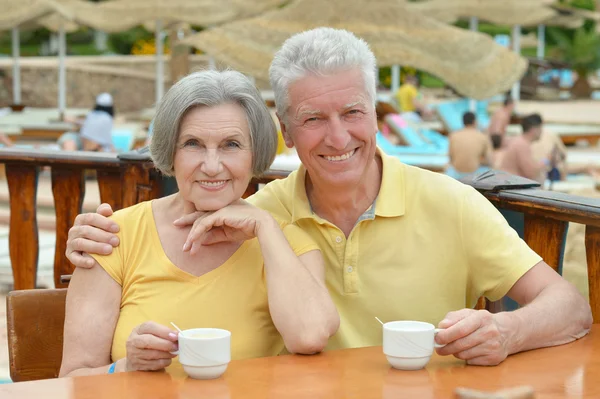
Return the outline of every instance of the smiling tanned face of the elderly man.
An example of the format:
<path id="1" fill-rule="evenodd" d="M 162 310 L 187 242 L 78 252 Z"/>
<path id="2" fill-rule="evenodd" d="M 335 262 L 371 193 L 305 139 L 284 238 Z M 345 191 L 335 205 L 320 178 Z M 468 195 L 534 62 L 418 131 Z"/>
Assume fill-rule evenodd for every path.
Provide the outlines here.
<path id="1" fill-rule="evenodd" d="M 375 157 L 377 132 L 360 69 L 301 78 L 288 94 L 282 133 L 312 181 L 328 187 L 358 184 Z"/>

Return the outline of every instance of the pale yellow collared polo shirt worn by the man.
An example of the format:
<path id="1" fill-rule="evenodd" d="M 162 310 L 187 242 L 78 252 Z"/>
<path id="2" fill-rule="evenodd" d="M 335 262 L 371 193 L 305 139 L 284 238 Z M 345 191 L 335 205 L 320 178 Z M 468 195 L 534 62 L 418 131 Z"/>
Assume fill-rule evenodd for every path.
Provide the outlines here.
<path id="1" fill-rule="evenodd" d="M 437 325 L 482 295 L 498 300 L 541 261 L 475 189 L 378 152 L 379 195 L 347 238 L 311 211 L 304 167 L 250 199 L 321 248 L 341 319 L 328 349 L 381 345 L 375 316 Z"/>

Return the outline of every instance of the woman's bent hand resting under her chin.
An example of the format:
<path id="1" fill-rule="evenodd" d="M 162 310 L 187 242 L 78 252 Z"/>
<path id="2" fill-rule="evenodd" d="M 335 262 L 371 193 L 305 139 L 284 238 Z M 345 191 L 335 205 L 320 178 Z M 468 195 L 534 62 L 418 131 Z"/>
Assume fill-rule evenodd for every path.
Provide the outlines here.
<path id="1" fill-rule="evenodd" d="M 181 225 L 179 221 L 177 225 Z M 218 211 L 198 216 L 183 250 L 193 255 L 200 245 L 250 240 L 258 237 L 261 227 L 270 222 L 275 221 L 268 212 L 238 200 Z"/>

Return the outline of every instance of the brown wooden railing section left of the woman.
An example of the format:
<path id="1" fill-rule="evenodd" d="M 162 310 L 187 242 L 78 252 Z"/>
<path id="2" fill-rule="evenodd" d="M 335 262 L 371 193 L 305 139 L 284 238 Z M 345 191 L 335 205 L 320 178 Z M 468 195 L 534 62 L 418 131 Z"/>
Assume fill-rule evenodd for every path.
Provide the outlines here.
<path id="1" fill-rule="evenodd" d="M 51 168 L 52 193 L 56 209 L 54 282 L 64 287 L 60 276 L 71 274 L 73 266 L 65 256 L 69 228 L 81 212 L 85 195 L 85 174 L 96 173 L 102 202 L 120 209 L 156 198 L 160 176 L 147 155 L 121 160 L 116 155 L 87 152 L 49 152 L 0 149 L 10 194 L 9 249 L 14 289 L 36 286 L 39 254 L 36 195 L 40 170 Z"/>

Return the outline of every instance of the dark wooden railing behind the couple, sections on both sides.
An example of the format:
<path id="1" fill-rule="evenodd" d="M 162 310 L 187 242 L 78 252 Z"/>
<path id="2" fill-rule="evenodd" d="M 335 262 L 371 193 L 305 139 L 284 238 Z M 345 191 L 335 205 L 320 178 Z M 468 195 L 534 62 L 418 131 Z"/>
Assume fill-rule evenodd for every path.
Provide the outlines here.
<path id="1" fill-rule="evenodd" d="M 15 289 L 35 287 L 38 258 L 36 223 L 37 176 L 49 166 L 56 207 L 56 253 L 54 281 L 70 274 L 73 266 L 65 257 L 68 230 L 81 212 L 84 171 L 96 171 L 102 202 L 119 209 L 157 198 L 162 192 L 162 177 L 153 168 L 147 153 L 121 157 L 96 153 L 40 152 L 0 149 L 0 163 L 6 164 L 10 190 L 10 258 Z M 284 178 L 288 172 L 269 171 L 253 179 L 245 196 L 260 184 Z M 568 222 L 586 225 L 585 247 L 588 264 L 590 303 L 594 322 L 600 322 L 600 200 L 538 189 L 480 190 L 499 209 L 524 215 L 524 239 L 544 260 L 558 271 Z M 500 310 L 498 304 L 488 308 Z"/>

